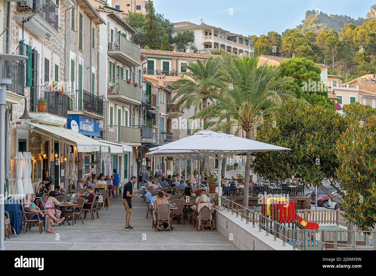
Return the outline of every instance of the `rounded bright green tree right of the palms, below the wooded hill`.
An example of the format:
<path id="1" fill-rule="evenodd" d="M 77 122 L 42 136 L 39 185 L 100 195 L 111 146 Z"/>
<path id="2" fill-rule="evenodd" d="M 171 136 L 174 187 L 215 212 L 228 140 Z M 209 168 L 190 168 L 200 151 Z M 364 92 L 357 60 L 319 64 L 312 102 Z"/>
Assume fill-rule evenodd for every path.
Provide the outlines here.
<path id="1" fill-rule="evenodd" d="M 279 67 L 281 77 L 293 78 L 294 81 L 287 84 L 287 87 L 296 94 L 298 99 L 303 98 L 308 103 L 333 108 L 334 101 L 327 98 L 327 87 L 324 84 L 316 88 L 310 85 L 321 83 L 321 69 L 312 60 L 305 57 L 288 59 L 280 63 Z"/>

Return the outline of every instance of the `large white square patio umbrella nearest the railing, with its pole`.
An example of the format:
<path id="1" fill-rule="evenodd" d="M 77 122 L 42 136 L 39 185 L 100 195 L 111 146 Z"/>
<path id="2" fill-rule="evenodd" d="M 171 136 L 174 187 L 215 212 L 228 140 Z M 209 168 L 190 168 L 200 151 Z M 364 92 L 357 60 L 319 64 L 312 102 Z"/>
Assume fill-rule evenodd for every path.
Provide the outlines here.
<path id="1" fill-rule="evenodd" d="M 167 143 L 162 146 L 151 148 L 150 150 L 189 150 L 197 154 L 207 155 L 218 159 L 218 205 L 221 205 L 221 163 L 222 160 L 229 155 L 241 152 L 267 152 L 290 150 L 280 146 L 262 143 L 255 140 L 237 137 L 232 134 L 226 134 L 221 131 L 214 132 L 211 130 L 203 130 L 174 142 Z"/>

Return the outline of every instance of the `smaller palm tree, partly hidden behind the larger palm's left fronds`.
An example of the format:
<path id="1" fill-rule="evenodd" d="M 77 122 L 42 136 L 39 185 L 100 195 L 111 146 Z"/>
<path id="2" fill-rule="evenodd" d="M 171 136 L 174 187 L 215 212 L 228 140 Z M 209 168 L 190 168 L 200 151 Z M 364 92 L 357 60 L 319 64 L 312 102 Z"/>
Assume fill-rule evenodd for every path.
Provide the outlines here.
<path id="1" fill-rule="evenodd" d="M 211 57 L 202 62 L 196 60 L 189 62 L 186 66 L 186 72 L 182 73 L 182 79 L 175 81 L 172 87 L 176 89 L 175 95 L 172 99 L 176 101 L 176 107 L 183 107 L 183 109 L 190 109 L 194 106 L 195 113 L 201 108 L 208 106 L 208 100 L 218 93 L 218 88 L 212 85 L 207 85 L 207 82 L 220 79 L 220 69 L 222 60 Z M 204 119 L 204 124 L 207 120 Z M 206 170 L 206 160 L 202 160 L 202 170 Z"/>

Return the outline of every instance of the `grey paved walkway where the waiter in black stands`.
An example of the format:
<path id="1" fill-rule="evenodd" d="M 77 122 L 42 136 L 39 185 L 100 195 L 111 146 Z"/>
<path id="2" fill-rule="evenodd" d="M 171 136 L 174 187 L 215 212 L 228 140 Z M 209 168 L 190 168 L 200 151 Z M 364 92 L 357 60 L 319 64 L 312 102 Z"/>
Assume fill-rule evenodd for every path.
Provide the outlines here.
<path id="1" fill-rule="evenodd" d="M 102 209 L 99 219 L 90 216 L 73 226 L 67 223 L 53 230 L 56 234 L 39 234 L 38 227 L 6 240 L 7 250 L 132 250 L 132 249 L 175 249 L 175 250 L 237 250 L 226 238 L 215 230 L 197 232 L 190 223 L 180 225 L 170 232 L 155 232 L 152 219 L 146 219 L 146 203 L 142 198 L 132 199 L 130 225 L 133 230 L 124 230 L 125 210 L 122 199 L 110 199 L 108 211 Z"/>

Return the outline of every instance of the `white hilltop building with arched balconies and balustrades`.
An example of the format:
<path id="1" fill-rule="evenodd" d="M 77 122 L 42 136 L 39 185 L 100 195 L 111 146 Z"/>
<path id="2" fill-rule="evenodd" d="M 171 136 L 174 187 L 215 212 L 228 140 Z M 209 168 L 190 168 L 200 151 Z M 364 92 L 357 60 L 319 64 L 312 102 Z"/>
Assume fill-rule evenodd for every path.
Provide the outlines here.
<path id="1" fill-rule="evenodd" d="M 218 48 L 240 56 L 253 56 L 253 40 L 206 24 L 194 24 L 188 21 L 174 23 L 174 35 L 183 31 L 194 32 L 194 46 L 199 52 L 211 52 Z"/>

